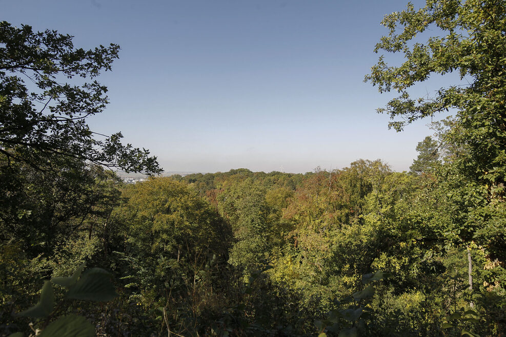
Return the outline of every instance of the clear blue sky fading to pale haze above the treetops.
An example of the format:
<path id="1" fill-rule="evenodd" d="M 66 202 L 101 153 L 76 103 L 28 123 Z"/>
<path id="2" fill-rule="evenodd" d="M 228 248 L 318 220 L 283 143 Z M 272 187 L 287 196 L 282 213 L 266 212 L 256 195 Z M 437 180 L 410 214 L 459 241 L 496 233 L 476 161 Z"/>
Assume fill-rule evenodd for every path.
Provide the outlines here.
<path id="1" fill-rule="evenodd" d="M 376 109 L 394 95 L 363 78 L 387 34 L 381 19 L 406 4 L 0 0 L 0 20 L 73 35 L 85 49 L 118 44 L 112 72 L 98 78 L 110 104 L 90 128 L 121 131 L 165 171 L 304 173 L 360 158 L 404 171 L 431 120 L 388 130 L 389 117 Z"/>

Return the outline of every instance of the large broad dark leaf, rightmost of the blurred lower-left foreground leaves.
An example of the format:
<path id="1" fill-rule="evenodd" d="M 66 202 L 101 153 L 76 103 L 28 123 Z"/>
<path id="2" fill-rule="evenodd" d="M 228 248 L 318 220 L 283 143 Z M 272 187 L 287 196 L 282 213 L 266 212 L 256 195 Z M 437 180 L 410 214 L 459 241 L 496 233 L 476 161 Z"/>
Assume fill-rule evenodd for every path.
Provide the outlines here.
<path id="1" fill-rule="evenodd" d="M 104 302 L 116 297 L 111 274 L 102 268 L 91 268 L 72 286 L 67 298 L 75 300 Z"/>

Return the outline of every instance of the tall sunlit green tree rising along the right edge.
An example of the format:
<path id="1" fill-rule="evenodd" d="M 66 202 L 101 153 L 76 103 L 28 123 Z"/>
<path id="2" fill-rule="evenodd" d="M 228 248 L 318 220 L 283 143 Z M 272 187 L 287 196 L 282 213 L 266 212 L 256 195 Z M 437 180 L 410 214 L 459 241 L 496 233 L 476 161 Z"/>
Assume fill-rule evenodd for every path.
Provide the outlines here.
<path id="1" fill-rule="evenodd" d="M 493 282 L 496 290 L 504 289 L 506 1 L 427 0 L 418 10 L 409 3 L 407 9 L 386 15 L 382 25 L 389 34 L 375 51 L 402 53 L 404 61 L 390 66 L 381 55 L 366 76 L 381 93 L 399 94 L 378 112 L 389 114 L 393 120 L 389 126 L 397 131 L 438 112 L 456 112 L 445 137 L 458 151 L 438 177 L 453 222 L 441 224 L 447 227 L 442 235 L 447 242 L 468 249 L 479 247 L 485 256 L 484 269 L 493 266 L 488 283 Z M 425 43 L 421 33 L 430 34 Z M 418 83 L 452 72 L 458 72 L 461 81 L 432 96 L 412 95 Z M 468 258 L 471 266 L 471 254 Z M 501 305 L 506 305 L 503 295 Z"/>

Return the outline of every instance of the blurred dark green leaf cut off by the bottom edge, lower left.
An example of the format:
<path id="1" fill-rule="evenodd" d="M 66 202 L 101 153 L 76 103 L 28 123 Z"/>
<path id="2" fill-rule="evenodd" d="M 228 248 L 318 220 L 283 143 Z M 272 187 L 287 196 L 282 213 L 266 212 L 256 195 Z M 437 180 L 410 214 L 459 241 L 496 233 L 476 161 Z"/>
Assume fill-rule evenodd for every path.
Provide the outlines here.
<path id="1" fill-rule="evenodd" d="M 94 337 L 95 327 L 86 318 L 78 315 L 62 316 L 51 322 L 39 337 Z"/>

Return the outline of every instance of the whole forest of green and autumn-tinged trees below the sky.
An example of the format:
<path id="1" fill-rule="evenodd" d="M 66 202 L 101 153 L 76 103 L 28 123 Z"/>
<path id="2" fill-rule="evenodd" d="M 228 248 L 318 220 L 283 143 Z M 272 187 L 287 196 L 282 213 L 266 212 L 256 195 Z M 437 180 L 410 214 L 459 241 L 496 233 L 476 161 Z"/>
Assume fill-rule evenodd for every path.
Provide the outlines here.
<path id="1" fill-rule="evenodd" d="M 119 46 L 0 22 L 0 335 L 506 336 L 506 1 L 382 25 L 365 81 L 397 96 L 378 112 L 434 120 L 409 172 L 160 177 L 87 123 Z M 413 94 L 452 72 L 467 84 Z"/>

